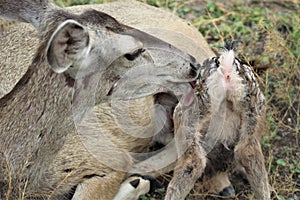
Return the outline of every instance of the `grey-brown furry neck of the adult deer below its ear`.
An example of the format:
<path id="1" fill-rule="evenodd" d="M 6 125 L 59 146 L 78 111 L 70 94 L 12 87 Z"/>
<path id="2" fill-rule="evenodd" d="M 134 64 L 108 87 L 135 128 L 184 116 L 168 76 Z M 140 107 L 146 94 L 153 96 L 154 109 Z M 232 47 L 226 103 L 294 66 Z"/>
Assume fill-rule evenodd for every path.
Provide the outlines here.
<path id="1" fill-rule="evenodd" d="M 52 72 L 37 55 L 14 89 L 0 99 L 0 150 L 13 163 L 13 172 L 46 168 L 41 165 L 51 162 L 66 131 L 72 130 L 71 103 L 72 87 L 65 76 Z"/>

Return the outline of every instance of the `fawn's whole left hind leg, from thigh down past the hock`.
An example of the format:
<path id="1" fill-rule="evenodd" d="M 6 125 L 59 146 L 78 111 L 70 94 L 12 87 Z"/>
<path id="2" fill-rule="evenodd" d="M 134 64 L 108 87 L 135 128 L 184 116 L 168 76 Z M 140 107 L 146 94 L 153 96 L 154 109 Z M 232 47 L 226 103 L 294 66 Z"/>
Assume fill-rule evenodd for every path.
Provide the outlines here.
<path id="1" fill-rule="evenodd" d="M 184 106 L 184 102 L 180 101 L 183 104 L 174 110 L 174 140 L 178 160 L 167 188 L 166 200 L 184 199 L 206 166 L 206 154 L 201 144 L 202 128 L 198 125 L 198 101 L 195 100 L 189 107 Z"/>

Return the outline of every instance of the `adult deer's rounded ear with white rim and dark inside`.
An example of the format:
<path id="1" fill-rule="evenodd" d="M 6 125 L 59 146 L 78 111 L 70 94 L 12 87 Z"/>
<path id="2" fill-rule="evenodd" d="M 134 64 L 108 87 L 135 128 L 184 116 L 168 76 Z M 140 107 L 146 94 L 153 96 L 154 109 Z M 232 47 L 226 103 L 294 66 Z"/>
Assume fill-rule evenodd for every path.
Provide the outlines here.
<path id="1" fill-rule="evenodd" d="M 89 50 L 89 33 L 75 20 L 66 20 L 58 26 L 48 42 L 46 54 L 50 67 L 63 73 L 80 61 Z"/>

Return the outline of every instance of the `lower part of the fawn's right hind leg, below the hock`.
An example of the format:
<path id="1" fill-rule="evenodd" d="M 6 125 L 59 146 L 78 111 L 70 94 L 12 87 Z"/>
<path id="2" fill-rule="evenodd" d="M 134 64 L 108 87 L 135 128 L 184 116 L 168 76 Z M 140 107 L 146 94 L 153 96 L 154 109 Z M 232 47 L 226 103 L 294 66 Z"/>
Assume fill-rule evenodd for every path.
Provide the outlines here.
<path id="1" fill-rule="evenodd" d="M 235 147 L 235 160 L 245 169 L 255 198 L 269 200 L 270 189 L 264 156 L 259 141 L 253 135 L 243 139 Z"/>

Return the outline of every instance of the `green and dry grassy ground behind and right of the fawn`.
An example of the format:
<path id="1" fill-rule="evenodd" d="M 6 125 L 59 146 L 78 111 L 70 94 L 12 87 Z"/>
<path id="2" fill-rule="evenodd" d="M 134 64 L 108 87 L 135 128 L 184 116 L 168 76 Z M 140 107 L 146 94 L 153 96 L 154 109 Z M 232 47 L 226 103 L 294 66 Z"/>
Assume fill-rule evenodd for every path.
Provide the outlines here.
<path id="1" fill-rule="evenodd" d="M 60 6 L 105 3 L 56 0 Z M 217 52 L 226 39 L 242 41 L 240 54 L 253 66 L 267 98 L 267 132 L 262 141 L 272 199 L 300 197 L 300 18 L 296 1 L 144 0 L 192 22 Z M 225 1 L 224 1 L 225 2 Z M 255 3 L 257 2 L 257 3 Z M 298 12 L 298 13 L 297 13 Z M 195 192 L 194 192 L 195 193 Z M 238 198 L 250 198 L 240 193 Z M 251 196 L 251 195 L 250 195 Z M 192 195 L 191 195 L 192 197 Z M 142 197 L 153 199 L 153 197 Z"/>

